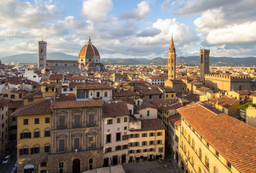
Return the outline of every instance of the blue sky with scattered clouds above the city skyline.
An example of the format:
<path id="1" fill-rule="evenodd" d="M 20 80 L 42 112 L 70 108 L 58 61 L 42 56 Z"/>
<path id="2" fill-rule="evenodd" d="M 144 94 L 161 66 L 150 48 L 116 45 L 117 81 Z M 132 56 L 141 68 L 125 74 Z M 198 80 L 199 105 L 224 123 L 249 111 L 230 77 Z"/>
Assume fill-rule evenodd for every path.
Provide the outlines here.
<path id="1" fill-rule="evenodd" d="M 91 37 L 101 58 L 256 54 L 255 0 L 3 0 L 0 58 L 47 51 L 78 56 Z"/>

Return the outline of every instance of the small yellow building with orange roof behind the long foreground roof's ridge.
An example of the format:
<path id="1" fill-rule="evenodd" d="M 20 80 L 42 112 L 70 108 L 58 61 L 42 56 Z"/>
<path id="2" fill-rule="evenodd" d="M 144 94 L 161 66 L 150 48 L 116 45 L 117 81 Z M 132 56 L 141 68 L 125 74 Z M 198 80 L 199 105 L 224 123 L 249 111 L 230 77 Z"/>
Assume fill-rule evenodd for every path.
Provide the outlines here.
<path id="1" fill-rule="evenodd" d="M 237 99 L 223 96 L 216 99 L 211 99 L 210 103 L 213 105 L 213 107 L 221 110 L 226 115 L 238 115 L 237 110 L 239 110 L 239 100 Z"/>

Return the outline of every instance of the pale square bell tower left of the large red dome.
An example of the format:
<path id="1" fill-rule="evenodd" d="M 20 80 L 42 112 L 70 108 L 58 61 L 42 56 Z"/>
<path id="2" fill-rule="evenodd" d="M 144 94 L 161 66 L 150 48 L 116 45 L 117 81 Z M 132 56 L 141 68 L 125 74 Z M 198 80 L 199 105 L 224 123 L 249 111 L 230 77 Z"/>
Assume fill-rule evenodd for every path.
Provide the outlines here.
<path id="1" fill-rule="evenodd" d="M 46 45 L 47 43 L 42 41 L 38 42 L 38 69 L 42 70 L 46 66 Z"/>

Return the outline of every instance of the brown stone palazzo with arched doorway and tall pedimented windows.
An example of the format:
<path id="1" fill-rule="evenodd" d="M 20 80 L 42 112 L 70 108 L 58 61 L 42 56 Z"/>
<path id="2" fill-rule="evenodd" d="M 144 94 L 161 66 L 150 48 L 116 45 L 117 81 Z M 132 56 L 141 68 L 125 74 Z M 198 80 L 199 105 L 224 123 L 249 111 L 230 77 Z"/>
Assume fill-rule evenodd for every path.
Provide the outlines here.
<path id="1" fill-rule="evenodd" d="M 49 173 L 102 167 L 102 106 L 102 100 L 53 103 Z"/>

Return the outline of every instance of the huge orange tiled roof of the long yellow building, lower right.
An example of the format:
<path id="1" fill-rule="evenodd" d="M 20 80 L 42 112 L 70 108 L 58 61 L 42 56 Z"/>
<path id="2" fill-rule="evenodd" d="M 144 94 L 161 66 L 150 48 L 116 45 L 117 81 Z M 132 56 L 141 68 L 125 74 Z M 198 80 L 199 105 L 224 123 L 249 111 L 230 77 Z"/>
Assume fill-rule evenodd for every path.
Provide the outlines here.
<path id="1" fill-rule="evenodd" d="M 256 172 L 256 129 L 200 102 L 177 110 L 240 172 Z"/>

